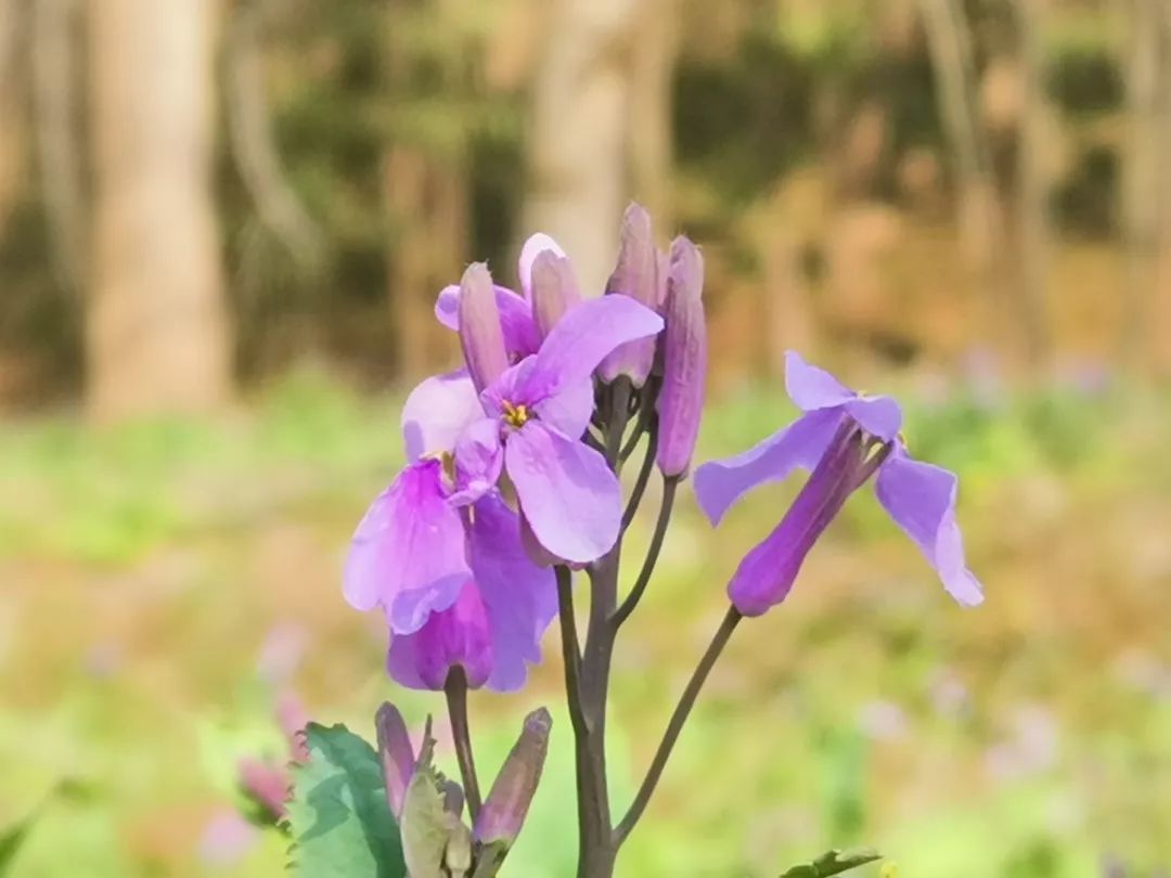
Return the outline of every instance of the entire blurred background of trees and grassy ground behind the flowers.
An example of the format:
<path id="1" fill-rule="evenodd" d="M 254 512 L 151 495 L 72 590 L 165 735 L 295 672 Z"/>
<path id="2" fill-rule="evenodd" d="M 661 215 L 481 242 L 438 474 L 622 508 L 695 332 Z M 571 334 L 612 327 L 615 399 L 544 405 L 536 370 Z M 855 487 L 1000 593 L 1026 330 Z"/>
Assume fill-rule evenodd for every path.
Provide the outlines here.
<path id="1" fill-rule="evenodd" d="M 8 873 L 280 874 L 237 816 L 278 714 L 441 712 L 340 591 L 398 402 L 457 362 L 436 293 L 514 282 L 536 229 L 598 290 L 637 198 L 704 247 L 703 455 L 789 417 L 789 347 L 898 392 L 987 603 L 856 498 L 621 873 L 867 843 L 908 878 L 1165 876 L 1169 155 L 1166 0 L 0 0 Z M 792 493 L 718 539 L 685 493 L 616 657 L 619 798 Z M 561 698 L 555 644 L 474 700 L 481 771 Z M 554 739 L 506 874 L 571 873 Z"/>

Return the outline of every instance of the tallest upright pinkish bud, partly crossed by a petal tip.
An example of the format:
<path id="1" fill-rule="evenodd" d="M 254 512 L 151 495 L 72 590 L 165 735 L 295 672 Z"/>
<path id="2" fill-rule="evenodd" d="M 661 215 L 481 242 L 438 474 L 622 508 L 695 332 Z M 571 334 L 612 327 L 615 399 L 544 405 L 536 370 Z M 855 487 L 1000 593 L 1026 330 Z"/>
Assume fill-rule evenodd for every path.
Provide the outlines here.
<path id="1" fill-rule="evenodd" d="M 607 295 L 630 296 L 653 310 L 658 309 L 658 251 L 646 208 L 631 203 L 622 218 L 622 245 L 618 265 L 605 284 Z M 655 365 L 655 338 L 638 338 L 617 348 L 598 366 L 598 377 L 607 384 L 625 375 L 636 387 L 646 383 Z"/>

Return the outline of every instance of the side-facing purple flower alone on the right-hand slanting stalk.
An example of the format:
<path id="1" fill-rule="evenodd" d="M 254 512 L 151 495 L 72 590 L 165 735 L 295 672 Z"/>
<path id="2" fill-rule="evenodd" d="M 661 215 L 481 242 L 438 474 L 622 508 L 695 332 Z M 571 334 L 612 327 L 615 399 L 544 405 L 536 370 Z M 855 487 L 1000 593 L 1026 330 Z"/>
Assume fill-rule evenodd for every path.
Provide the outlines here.
<path id="1" fill-rule="evenodd" d="M 956 522 L 956 475 L 906 453 L 898 404 L 890 397 L 860 396 L 792 351 L 785 383 L 803 414 L 742 454 L 696 472 L 699 505 L 714 524 L 758 485 L 797 467 L 812 471 L 776 529 L 740 562 L 728 583 L 735 608 L 759 616 L 783 601 L 817 537 L 876 472 L 878 502 L 919 547 L 944 588 L 966 606 L 979 604 L 984 595 L 967 569 Z"/>

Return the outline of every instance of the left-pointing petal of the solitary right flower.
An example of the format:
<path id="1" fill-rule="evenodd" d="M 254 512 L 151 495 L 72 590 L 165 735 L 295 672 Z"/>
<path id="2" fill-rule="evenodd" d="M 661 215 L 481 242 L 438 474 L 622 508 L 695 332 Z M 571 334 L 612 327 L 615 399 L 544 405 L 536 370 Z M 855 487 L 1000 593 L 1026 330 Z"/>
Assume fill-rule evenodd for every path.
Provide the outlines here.
<path id="1" fill-rule="evenodd" d="M 744 494 L 785 479 L 795 468 L 813 469 L 842 421 L 836 409 L 802 414 L 789 426 L 746 452 L 712 460 L 696 469 L 696 499 L 712 524 Z"/>

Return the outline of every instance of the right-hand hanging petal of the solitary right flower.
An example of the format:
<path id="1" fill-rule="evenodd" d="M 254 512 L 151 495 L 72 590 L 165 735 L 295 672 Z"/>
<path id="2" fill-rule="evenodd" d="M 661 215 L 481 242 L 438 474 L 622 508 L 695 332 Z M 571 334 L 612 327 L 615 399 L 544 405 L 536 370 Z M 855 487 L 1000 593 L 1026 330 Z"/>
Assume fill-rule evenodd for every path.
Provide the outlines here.
<path id="1" fill-rule="evenodd" d="M 964 540 L 956 522 L 954 473 L 912 460 L 898 447 L 878 469 L 878 502 L 939 572 L 949 594 L 965 606 L 984 601 L 980 583 L 967 569 Z"/>

